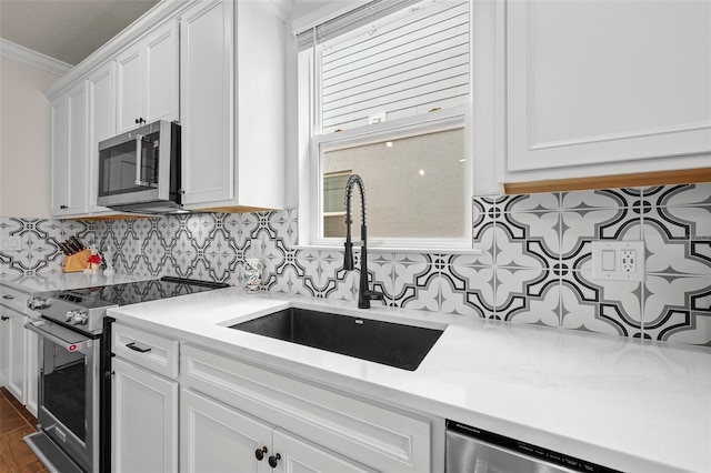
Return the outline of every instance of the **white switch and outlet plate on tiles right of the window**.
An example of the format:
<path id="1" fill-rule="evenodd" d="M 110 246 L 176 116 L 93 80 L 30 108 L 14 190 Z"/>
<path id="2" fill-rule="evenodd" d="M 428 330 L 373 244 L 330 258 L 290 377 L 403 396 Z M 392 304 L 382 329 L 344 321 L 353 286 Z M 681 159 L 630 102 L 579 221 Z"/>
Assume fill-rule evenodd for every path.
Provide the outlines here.
<path id="1" fill-rule="evenodd" d="M 644 242 L 593 241 L 592 278 L 644 281 Z"/>

